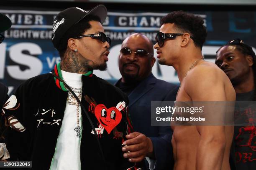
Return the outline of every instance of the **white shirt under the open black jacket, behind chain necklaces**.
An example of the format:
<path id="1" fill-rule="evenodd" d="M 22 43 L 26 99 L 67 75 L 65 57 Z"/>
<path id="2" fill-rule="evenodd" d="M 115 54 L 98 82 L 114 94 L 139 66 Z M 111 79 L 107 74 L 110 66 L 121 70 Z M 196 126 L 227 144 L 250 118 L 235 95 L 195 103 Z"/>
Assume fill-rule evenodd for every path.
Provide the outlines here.
<path id="1" fill-rule="evenodd" d="M 82 75 L 77 73 L 65 72 L 61 70 L 62 77 L 67 85 L 80 88 L 82 87 Z M 72 89 L 73 90 L 73 89 Z M 73 90 L 81 91 L 82 90 Z M 77 97 L 81 100 L 82 93 Z M 82 128 L 81 106 L 79 106 L 79 126 Z M 51 170 L 81 170 L 80 142 L 81 137 L 77 137 L 74 128 L 77 127 L 77 100 L 69 92 L 67 105 L 62 120 L 59 137 L 55 148 L 54 157 L 51 161 Z M 81 130 L 82 135 L 82 130 Z"/>

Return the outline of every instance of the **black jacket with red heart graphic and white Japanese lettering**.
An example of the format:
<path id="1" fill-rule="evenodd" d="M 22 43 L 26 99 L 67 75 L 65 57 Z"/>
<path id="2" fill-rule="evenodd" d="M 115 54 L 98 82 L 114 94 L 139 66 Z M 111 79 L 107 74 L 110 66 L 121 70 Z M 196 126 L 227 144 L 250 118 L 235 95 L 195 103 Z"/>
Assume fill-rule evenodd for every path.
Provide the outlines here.
<path id="1" fill-rule="evenodd" d="M 56 82 L 53 75 L 49 73 L 38 75 L 20 85 L 14 94 L 15 96 L 10 97 L 13 98 L 13 101 L 15 98 L 18 100 L 11 109 L 4 109 L 5 117 L 7 117 L 9 123 L 10 120 L 18 120 L 18 122 L 15 120 L 16 124 L 10 123 L 11 128 L 9 128 L 6 135 L 10 160 L 17 160 L 17 158 L 20 161 L 31 160 L 32 169 L 49 170 L 68 95 L 68 92 L 61 90 Z M 104 133 L 98 137 L 108 164 L 106 166 L 102 162 L 95 136 L 91 133 L 92 127 L 82 111 L 83 130 L 80 147 L 82 170 L 104 170 L 106 168 L 108 170 L 127 170 L 133 167 L 134 163 L 130 163 L 128 159 L 123 158 L 121 150 L 125 135 L 132 131 L 131 122 L 126 112 L 128 98 L 117 87 L 96 75 L 82 75 L 82 84 L 82 105 L 89 113 L 95 128 L 99 125 L 96 112 L 101 111 L 95 109 L 97 105 L 105 105 L 107 114 L 114 109 L 116 112 L 115 118 L 117 119 L 118 115 L 121 117 L 115 129 L 108 133 L 105 127 Z M 88 96 L 91 100 L 85 100 L 85 96 Z M 89 110 L 92 101 L 95 104 L 94 109 Z M 119 102 L 123 101 L 125 102 L 125 108 L 118 112 L 115 108 Z M 44 110 L 49 109 L 51 110 L 48 114 L 42 114 Z M 40 121 L 41 119 L 43 121 Z M 60 120 L 59 124 L 56 123 L 56 120 Z M 51 122 L 51 125 L 42 124 L 42 122 Z M 55 124 L 53 124 L 54 122 Z M 117 132 L 122 133 L 122 135 L 118 136 Z"/>

